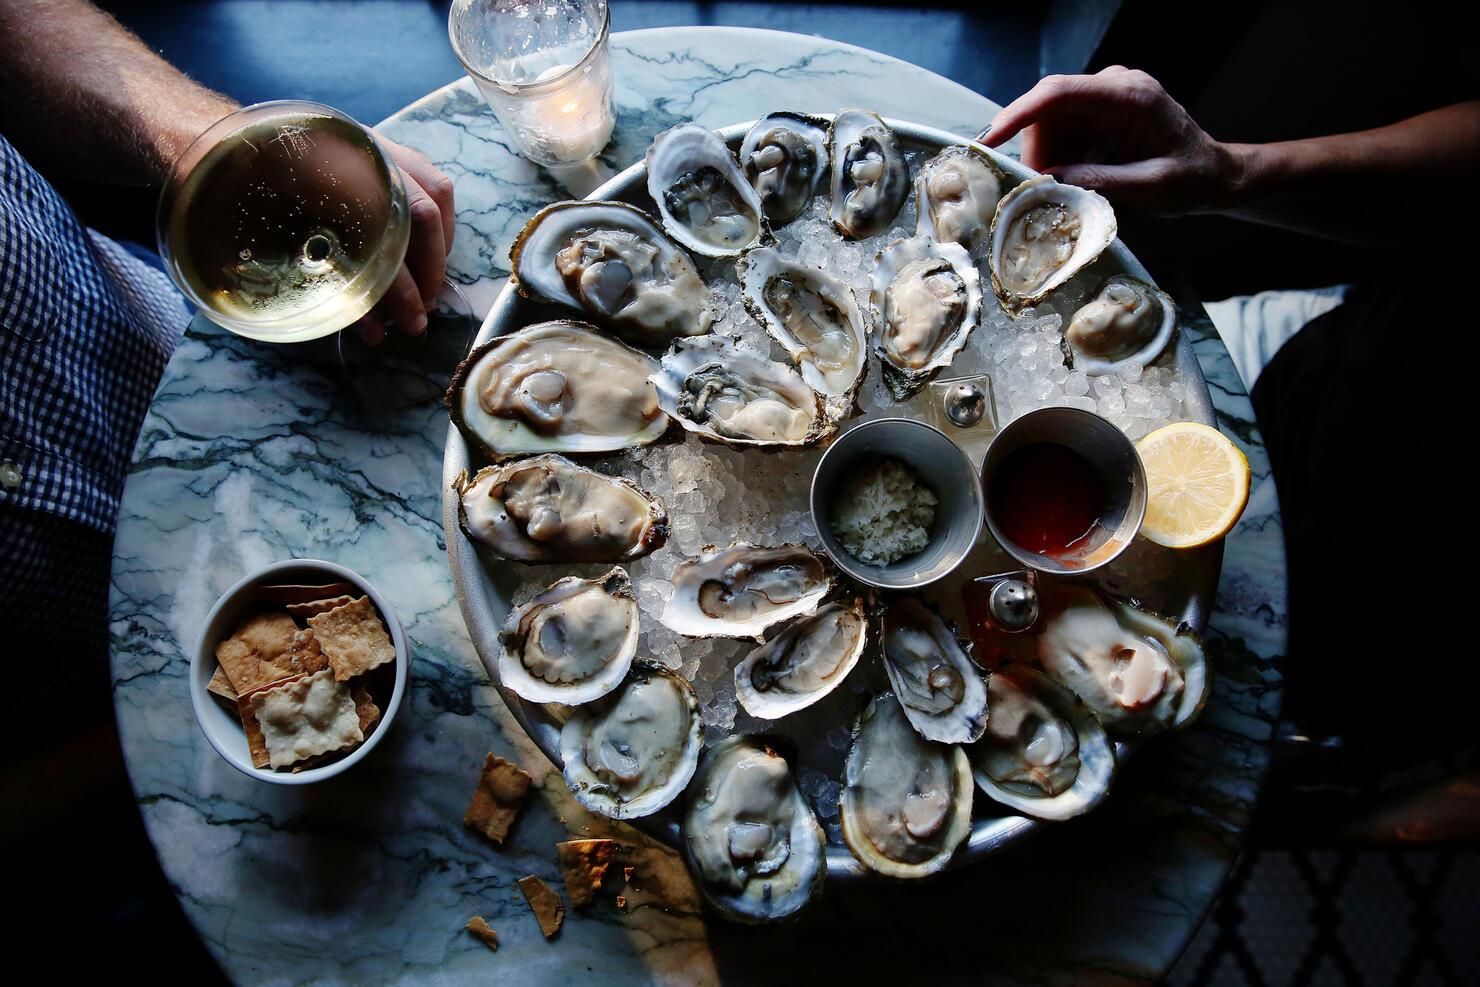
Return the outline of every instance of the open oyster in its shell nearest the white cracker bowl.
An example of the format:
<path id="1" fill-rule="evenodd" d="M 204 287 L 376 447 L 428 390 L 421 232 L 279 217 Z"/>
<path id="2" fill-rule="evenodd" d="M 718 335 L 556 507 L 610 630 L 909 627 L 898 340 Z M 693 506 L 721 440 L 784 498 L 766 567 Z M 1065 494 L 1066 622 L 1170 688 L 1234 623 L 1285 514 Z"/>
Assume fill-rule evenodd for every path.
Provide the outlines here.
<path id="1" fill-rule="evenodd" d="M 638 651 L 638 601 L 620 567 L 570 576 L 509 613 L 499 632 L 499 681 L 531 703 L 601 698 Z"/>

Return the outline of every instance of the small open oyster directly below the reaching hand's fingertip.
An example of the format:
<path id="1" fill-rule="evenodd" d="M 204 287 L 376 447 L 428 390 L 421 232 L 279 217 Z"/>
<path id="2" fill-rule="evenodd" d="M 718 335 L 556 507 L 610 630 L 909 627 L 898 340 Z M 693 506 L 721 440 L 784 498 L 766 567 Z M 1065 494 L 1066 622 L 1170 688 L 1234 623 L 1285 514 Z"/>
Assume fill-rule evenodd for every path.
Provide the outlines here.
<path id="1" fill-rule="evenodd" d="M 915 176 L 915 232 L 959 243 L 975 255 L 992 234 L 992 218 L 1011 179 L 992 158 L 958 144 L 921 166 Z"/>

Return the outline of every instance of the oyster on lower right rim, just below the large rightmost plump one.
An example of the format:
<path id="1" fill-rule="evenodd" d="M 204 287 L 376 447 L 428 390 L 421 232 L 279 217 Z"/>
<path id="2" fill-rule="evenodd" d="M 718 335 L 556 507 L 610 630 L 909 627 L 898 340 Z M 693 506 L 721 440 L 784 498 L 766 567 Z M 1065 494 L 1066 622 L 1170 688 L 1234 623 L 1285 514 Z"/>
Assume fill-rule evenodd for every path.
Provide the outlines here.
<path id="1" fill-rule="evenodd" d="M 1040 820 L 1082 815 L 1110 792 L 1114 746 L 1079 697 L 1026 664 L 987 679 L 987 732 L 966 749 L 977 786 Z"/>

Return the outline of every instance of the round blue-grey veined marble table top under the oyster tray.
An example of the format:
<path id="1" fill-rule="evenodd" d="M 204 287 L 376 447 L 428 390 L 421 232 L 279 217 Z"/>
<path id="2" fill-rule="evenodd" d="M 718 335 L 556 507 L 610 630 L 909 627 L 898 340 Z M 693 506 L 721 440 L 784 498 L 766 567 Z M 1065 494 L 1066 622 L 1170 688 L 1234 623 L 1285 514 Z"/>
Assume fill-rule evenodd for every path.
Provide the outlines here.
<path id="1" fill-rule="evenodd" d="M 669 28 L 616 34 L 613 52 L 617 130 L 604 173 L 684 120 L 721 126 L 776 108 L 861 105 L 972 135 L 996 110 L 921 68 L 815 37 Z M 382 130 L 453 178 L 450 263 L 478 314 L 508 274 L 524 220 L 586 181 L 517 157 L 466 80 Z M 570 798 L 466 636 L 441 527 L 445 410 L 367 395 L 324 348 L 274 348 L 197 320 L 135 453 L 111 598 L 129 774 L 186 914 L 240 983 L 474 983 L 517 971 L 542 984 L 740 984 L 804 969 L 1156 980 L 1211 906 L 1248 826 L 1285 644 L 1280 521 L 1254 414 L 1208 320 L 1188 317 L 1184 331 L 1220 425 L 1255 476 L 1206 632 L 1215 694 L 1193 728 L 1131 759 L 1091 815 L 934 880 L 836 888 L 798 923 L 755 931 L 703 913 L 676 857 L 654 849 L 620 907 L 608 898 L 571 913 L 546 941 L 515 880 L 537 875 L 559 888 L 554 843 L 573 835 L 650 841 Z M 413 651 L 407 701 L 380 747 L 306 787 L 265 784 L 219 758 L 195 727 L 186 681 L 216 596 L 284 558 L 330 559 L 369 577 L 394 601 Z M 536 778 L 502 846 L 462 826 L 485 752 Z M 642 877 L 647 888 L 636 886 Z M 659 894 L 666 880 L 678 891 Z M 463 931 L 474 914 L 497 929 L 497 953 Z"/>

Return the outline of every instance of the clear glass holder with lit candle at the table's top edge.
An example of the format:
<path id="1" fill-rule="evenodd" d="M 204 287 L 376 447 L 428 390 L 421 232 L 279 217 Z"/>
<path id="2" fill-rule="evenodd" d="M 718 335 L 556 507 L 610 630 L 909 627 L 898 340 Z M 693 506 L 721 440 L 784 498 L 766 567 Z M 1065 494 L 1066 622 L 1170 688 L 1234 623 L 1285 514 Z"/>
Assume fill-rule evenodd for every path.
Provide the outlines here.
<path id="1" fill-rule="evenodd" d="M 447 34 L 524 157 L 580 164 L 611 138 L 605 0 L 454 0 Z"/>

